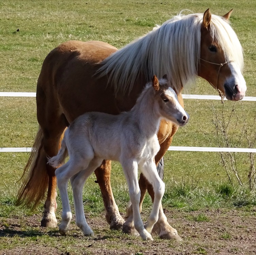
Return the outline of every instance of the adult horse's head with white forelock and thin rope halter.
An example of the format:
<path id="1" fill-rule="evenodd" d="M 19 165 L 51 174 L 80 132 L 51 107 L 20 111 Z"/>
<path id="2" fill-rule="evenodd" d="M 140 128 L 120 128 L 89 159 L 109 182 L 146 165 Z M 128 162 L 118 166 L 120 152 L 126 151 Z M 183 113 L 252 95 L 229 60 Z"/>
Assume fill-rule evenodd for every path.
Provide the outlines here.
<path id="1" fill-rule="evenodd" d="M 206 79 L 228 100 L 244 97 L 246 83 L 242 75 L 243 51 L 229 26 L 232 10 L 222 18 L 205 11 L 201 25 L 201 53 L 198 75 Z"/>

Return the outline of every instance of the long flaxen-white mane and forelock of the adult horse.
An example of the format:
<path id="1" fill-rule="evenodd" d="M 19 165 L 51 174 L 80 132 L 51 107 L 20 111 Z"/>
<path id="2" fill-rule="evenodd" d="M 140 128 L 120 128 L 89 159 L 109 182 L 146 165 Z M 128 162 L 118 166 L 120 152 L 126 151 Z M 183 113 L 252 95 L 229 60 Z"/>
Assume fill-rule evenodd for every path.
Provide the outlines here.
<path id="1" fill-rule="evenodd" d="M 102 61 L 99 76 L 107 75 L 115 93 L 130 92 L 140 74 L 147 82 L 156 74 L 167 74 L 177 91 L 195 82 L 200 58 L 203 14 L 179 14 L 135 39 Z M 212 15 L 210 33 L 217 39 L 226 60 L 243 68 L 243 51 L 236 33 L 227 20 Z"/>

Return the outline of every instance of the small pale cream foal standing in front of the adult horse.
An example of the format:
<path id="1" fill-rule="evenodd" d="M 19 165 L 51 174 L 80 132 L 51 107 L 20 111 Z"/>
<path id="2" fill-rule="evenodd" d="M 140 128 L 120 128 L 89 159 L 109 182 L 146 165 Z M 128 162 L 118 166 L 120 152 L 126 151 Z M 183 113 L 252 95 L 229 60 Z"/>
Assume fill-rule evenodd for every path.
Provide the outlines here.
<path id="1" fill-rule="evenodd" d="M 188 122 L 189 116 L 179 104 L 174 90 L 167 85 L 167 80 L 163 78 L 158 81 L 154 76 L 131 111 L 119 115 L 86 113 L 71 123 L 65 132 L 58 155 L 49 159 L 51 166 L 58 167 L 69 154 L 68 162 L 55 171 L 63 207 L 59 227 L 61 234 L 64 235 L 68 231 L 72 218 L 67 193 L 70 179 L 76 224 L 83 235 L 93 235 L 84 216 L 82 190 L 86 179 L 102 160 L 111 159 L 119 161 L 123 167 L 135 229 L 142 239 L 153 240 L 150 233 L 158 220 L 165 187 L 154 162 L 154 157 L 160 149 L 157 131 L 161 118 L 183 126 Z M 153 207 L 145 227 L 139 209 L 138 169 L 152 184 L 155 192 Z"/>

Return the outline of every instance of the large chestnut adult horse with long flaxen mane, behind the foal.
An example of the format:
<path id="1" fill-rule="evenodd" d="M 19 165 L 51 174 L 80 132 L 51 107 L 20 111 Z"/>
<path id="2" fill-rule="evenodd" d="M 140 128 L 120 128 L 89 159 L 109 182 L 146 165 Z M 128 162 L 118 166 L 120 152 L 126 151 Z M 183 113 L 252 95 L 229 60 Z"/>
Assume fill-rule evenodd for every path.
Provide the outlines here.
<path id="1" fill-rule="evenodd" d="M 232 10 L 231 10 L 232 11 Z M 156 74 L 167 74 L 170 86 L 183 106 L 183 86 L 196 76 L 206 79 L 229 100 L 244 97 L 246 85 L 242 76 L 243 51 L 228 12 L 223 17 L 204 14 L 178 15 L 124 48 L 99 41 L 68 41 L 52 50 L 42 66 L 37 82 L 37 119 L 40 125 L 33 152 L 22 175 L 17 204 L 35 208 L 44 198 L 42 226 L 55 227 L 55 169 L 47 165 L 47 157 L 57 154 L 65 128 L 77 116 L 91 111 L 118 114 L 135 104 L 143 86 Z M 143 85 L 144 84 L 144 85 Z M 149 120 L 150 121 L 150 120 Z M 158 132 L 160 150 L 156 164 L 169 148 L 177 125 L 162 121 Z M 111 162 L 104 160 L 95 170 L 111 228 L 124 224 L 110 185 Z M 153 188 L 140 176 L 141 204 Z M 124 229 L 132 227 L 131 208 Z M 155 231 L 161 238 L 179 239 L 163 213 Z"/>

